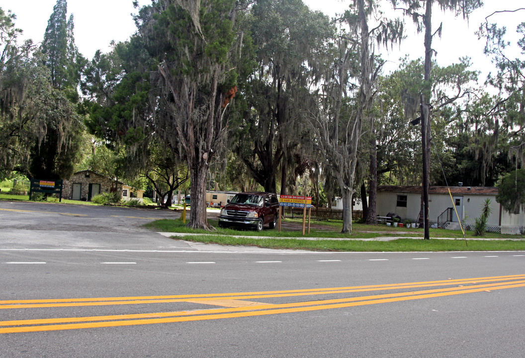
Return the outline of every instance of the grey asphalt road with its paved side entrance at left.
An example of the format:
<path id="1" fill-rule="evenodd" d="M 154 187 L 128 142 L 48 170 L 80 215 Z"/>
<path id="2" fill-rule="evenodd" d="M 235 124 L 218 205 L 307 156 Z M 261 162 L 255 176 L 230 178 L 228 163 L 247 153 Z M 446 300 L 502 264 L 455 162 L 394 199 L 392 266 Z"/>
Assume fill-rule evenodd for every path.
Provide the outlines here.
<path id="1" fill-rule="evenodd" d="M 223 248 L 0 202 L 2 357 L 523 357 L 525 252 Z"/>

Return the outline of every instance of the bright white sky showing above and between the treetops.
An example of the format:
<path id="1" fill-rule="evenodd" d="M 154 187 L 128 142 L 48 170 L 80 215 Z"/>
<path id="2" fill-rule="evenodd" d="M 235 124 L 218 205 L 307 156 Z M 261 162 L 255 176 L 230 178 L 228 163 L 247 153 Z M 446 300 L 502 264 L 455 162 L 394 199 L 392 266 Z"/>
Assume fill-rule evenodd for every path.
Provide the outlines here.
<path id="1" fill-rule="evenodd" d="M 312 10 L 320 10 L 333 16 L 348 7 L 350 0 L 303 0 Z M 480 70 L 485 77 L 493 70 L 490 60 L 483 54 L 484 42 L 474 34 L 485 17 L 496 10 L 513 10 L 523 7 L 523 0 L 485 0 L 484 7 L 475 10 L 468 22 L 462 16 L 455 18 L 451 13 L 443 13 L 438 6 L 433 8 L 433 28 L 437 29 L 443 22 L 442 38 L 435 38 L 433 48 L 437 51 L 436 60 L 440 66 L 448 66 L 458 62 L 460 57 L 471 57 L 471 70 Z M 149 4 L 149 0 L 140 0 L 140 5 Z M 389 2 L 385 3 L 388 16 L 401 17 L 400 11 L 390 10 Z M 15 25 L 24 30 L 24 39 L 31 38 L 39 43 L 43 37 L 49 16 L 53 12 L 56 0 L 0 0 L 0 7 L 12 10 L 17 19 Z M 134 32 L 135 25 L 131 14 L 137 13 L 132 0 L 69 0 L 68 16 L 74 14 L 75 43 L 81 54 L 91 58 L 97 49 L 103 52 L 110 50 L 111 40 L 124 41 Z M 490 17 L 489 22 L 507 26 L 508 34 L 515 34 L 516 26 L 525 18 L 525 10 L 517 13 L 503 13 Z M 401 47 L 381 49 L 386 58 L 385 72 L 393 71 L 399 64 L 399 58 L 409 54 L 411 59 L 424 56 L 423 37 L 417 35 L 412 19 L 405 19 L 408 38 Z M 516 36 L 509 36 L 516 43 Z M 517 52 L 513 57 L 518 56 Z M 482 79 L 480 79 L 482 80 Z"/>

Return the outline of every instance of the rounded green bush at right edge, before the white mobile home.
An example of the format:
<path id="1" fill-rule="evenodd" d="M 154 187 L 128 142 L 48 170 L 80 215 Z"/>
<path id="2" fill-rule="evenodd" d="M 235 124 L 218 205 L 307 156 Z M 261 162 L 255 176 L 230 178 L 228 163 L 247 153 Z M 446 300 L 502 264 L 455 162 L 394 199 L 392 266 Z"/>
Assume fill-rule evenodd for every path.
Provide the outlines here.
<path id="1" fill-rule="evenodd" d="M 512 171 L 501 178 L 496 201 L 509 213 L 525 210 L 525 169 Z"/>

